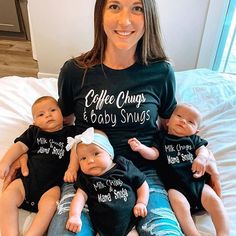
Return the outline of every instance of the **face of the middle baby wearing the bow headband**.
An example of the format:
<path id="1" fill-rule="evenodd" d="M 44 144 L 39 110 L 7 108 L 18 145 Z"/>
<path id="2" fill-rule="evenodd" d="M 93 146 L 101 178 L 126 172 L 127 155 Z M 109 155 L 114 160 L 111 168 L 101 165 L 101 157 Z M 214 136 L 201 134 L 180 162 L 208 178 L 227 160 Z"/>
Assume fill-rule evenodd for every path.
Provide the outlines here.
<path id="1" fill-rule="evenodd" d="M 100 176 L 108 171 L 112 165 L 112 157 L 96 144 L 77 145 L 76 153 L 81 171 L 91 176 Z"/>

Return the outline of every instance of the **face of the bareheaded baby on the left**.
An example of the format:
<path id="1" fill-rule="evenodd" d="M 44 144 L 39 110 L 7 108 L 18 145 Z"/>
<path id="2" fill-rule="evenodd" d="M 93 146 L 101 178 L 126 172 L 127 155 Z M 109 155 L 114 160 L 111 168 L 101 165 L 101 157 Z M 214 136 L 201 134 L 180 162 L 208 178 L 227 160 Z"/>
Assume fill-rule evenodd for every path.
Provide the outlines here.
<path id="1" fill-rule="evenodd" d="M 53 100 L 43 100 L 33 106 L 34 125 L 47 132 L 62 129 L 63 116 L 57 103 Z"/>

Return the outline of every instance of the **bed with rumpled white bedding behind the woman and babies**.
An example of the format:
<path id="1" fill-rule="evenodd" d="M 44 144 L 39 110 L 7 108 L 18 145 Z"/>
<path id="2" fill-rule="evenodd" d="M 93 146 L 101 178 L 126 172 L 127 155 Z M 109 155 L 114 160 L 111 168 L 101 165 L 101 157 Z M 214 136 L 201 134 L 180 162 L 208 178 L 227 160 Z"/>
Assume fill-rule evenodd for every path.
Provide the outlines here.
<path id="1" fill-rule="evenodd" d="M 230 219 L 230 235 L 236 235 L 236 76 L 195 69 L 176 72 L 176 82 L 178 102 L 192 103 L 203 114 L 200 135 L 209 141 L 215 155 L 222 200 Z M 42 95 L 57 98 L 56 78 L 0 78 L 0 158 L 14 138 L 31 124 L 31 104 Z M 21 231 L 33 216 L 20 210 Z M 194 220 L 202 235 L 215 235 L 206 213 L 194 216 Z"/>

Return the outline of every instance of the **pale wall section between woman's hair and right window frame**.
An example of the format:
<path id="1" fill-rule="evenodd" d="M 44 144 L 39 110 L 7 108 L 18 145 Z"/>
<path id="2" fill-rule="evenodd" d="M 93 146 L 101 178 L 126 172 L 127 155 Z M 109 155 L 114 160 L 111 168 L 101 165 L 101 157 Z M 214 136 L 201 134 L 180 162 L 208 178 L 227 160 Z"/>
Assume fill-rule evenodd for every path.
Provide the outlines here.
<path id="1" fill-rule="evenodd" d="M 166 50 L 175 70 L 196 67 L 208 0 L 158 0 Z"/>

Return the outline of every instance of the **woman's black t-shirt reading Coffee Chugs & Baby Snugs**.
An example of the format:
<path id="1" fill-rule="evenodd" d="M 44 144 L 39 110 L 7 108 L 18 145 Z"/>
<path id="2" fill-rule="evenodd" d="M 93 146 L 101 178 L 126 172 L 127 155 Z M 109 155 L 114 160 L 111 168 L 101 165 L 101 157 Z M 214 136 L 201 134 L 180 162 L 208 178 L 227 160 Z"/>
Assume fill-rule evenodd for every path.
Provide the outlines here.
<path id="1" fill-rule="evenodd" d="M 116 155 L 125 156 L 139 168 L 155 168 L 153 161 L 133 152 L 127 141 L 136 137 L 151 146 L 158 117 L 169 118 L 174 110 L 175 76 L 169 63 L 135 63 L 122 70 L 100 64 L 85 74 L 71 59 L 61 69 L 58 90 L 62 113 L 75 114 L 77 132 L 91 126 L 101 129 Z"/>

